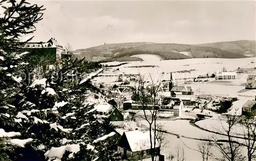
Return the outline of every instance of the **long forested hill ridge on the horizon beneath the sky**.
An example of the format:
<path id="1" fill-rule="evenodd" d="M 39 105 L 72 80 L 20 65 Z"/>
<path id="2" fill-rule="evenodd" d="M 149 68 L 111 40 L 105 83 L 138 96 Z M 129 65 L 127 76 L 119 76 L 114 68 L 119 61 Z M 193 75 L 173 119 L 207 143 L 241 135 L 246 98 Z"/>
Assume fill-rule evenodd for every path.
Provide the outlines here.
<path id="1" fill-rule="evenodd" d="M 115 43 L 77 49 L 76 58 L 90 61 L 141 61 L 131 56 L 153 54 L 163 60 L 189 58 L 247 58 L 255 57 L 256 41 L 241 40 L 207 44 L 174 44 L 153 42 Z"/>

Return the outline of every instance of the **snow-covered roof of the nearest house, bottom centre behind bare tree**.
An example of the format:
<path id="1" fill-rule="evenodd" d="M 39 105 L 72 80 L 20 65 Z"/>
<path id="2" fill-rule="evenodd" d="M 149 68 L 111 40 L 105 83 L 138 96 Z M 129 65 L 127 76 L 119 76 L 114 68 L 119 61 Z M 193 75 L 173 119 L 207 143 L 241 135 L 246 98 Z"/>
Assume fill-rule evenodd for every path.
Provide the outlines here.
<path id="1" fill-rule="evenodd" d="M 150 131 L 126 131 L 124 132 L 130 148 L 133 152 L 147 150 L 151 148 L 150 144 Z M 154 141 L 154 132 L 152 131 L 152 140 Z M 156 147 L 159 147 L 159 143 L 156 140 Z"/>

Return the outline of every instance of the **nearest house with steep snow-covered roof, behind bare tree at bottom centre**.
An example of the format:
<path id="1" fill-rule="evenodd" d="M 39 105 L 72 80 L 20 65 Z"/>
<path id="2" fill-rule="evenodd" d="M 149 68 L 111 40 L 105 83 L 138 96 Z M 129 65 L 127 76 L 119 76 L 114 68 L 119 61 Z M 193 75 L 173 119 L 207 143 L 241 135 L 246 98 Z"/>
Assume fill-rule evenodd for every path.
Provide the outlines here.
<path id="1" fill-rule="evenodd" d="M 154 142 L 154 138 L 152 140 Z M 122 159 L 141 160 L 150 157 L 151 152 L 159 156 L 159 146 L 159 142 L 156 140 L 156 146 L 151 151 L 150 131 L 132 130 L 123 132 L 117 151 L 121 154 Z"/>

